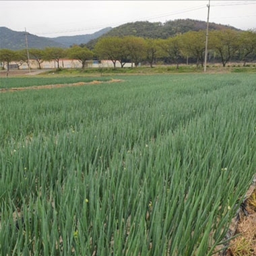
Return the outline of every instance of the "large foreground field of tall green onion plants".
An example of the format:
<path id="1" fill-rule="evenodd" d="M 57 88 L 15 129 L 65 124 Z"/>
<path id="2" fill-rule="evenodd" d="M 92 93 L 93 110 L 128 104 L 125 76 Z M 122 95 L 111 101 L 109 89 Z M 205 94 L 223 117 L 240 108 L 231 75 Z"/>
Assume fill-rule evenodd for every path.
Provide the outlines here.
<path id="1" fill-rule="evenodd" d="M 1 255 L 223 242 L 256 172 L 256 75 L 122 79 L 0 94 Z"/>

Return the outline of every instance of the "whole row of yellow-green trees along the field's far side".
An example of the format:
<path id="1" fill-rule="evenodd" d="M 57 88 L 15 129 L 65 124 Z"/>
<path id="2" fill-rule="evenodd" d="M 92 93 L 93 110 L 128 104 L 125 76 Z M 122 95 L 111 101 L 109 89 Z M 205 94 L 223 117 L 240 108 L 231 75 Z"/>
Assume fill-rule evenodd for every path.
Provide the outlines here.
<path id="1" fill-rule="evenodd" d="M 211 61 L 220 61 L 225 67 L 228 61 L 243 61 L 245 65 L 248 61 L 256 58 L 256 32 L 253 30 L 236 31 L 232 29 L 210 30 L 208 36 L 208 56 Z M 9 50 L 0 49 L 0 61 L 3 68 L 14 61 L 18 68 L 23 63 L 28 64 L 28 54 L 30 59 L 34 59 L 41 69 L 43 61 L 55 61 L 59 68 L 59 62 L 63 58 L 76 59 L 82 64 L 82 69 L 86 66 L 86 61 L 92 59 L 108 59 L 116 67 L 117 61 L 121 67 L 125 63 L 134 63 L 135 67 L 139 63 L 148 64 L 153 67 L 162 63 L 175 63 L 177 69 L 180 63 L 184 63 L 187 58 L 192 59 L 197 67 L 203 66 L 205 55 L 205 30 L 189 31 L 176 36 L 162 38 L 142 38 L 138 36 L 107 36 L 100 38 L 93 49 L 88 49 L 86 44 L 73 45 L 68 49 L 59 47 L 46 47 L 45 49 Z"/>

